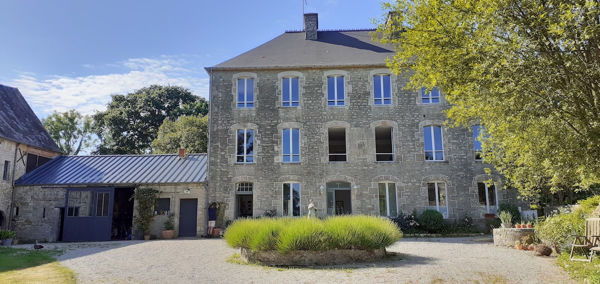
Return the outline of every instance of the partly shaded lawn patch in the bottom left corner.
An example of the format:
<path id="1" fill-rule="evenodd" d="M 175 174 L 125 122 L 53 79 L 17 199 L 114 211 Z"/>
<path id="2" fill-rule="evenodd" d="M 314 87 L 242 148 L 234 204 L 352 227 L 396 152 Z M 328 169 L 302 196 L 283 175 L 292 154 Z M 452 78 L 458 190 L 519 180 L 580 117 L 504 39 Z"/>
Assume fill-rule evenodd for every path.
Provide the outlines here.
<path id="1" fill-rule="evenodd" d="M 76 274 L 53 258 L 56 253 L 0 247 L 0 284 L 76 283 Z"/>

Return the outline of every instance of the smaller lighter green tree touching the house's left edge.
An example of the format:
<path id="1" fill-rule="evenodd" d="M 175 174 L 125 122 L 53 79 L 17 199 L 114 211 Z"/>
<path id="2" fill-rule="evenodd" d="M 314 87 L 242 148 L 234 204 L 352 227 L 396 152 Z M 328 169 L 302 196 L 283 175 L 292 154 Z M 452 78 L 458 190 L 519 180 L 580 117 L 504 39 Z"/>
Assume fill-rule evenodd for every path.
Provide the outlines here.
<path id="1" fill-rule="evenodd" d="M 158 128 L 158 137 L 152 141 L 152 153 L 177 153 L 179 148 L 185 148 L 188 153 L 207 152 L 208 116 L 181 116 L 176 121 L 164 120 Z"/>

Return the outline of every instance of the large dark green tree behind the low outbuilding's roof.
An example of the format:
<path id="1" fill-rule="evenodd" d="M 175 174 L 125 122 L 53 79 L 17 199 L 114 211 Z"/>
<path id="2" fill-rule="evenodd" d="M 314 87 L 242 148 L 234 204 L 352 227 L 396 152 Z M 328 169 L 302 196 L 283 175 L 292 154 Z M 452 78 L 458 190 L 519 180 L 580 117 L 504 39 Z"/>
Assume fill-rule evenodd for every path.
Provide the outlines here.
<path id="1" fill-rule="evenodd" d="M 106 111 L 94 114 L 94 132 L 101 141 L 95 153 L 150 153 L 164 120 L 206 113 L 206 99 L 181 86 L 154 84 L 127 95 L 113 95 Z"/>

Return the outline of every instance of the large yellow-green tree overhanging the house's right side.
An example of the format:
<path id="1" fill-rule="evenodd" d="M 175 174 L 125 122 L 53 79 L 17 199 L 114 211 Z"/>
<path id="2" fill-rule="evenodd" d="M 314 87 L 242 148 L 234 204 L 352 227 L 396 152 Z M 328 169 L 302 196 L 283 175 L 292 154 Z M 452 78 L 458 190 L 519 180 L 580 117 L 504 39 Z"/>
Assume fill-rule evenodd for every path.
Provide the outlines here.
<path id="1" fill-rule="evenodd" d="M 600 181 L 600 4 L 399 0 L 374 40 L 407 88 L 439 86 L 450 126 L 481 124 L 485 161 L 525 197 Z"/>

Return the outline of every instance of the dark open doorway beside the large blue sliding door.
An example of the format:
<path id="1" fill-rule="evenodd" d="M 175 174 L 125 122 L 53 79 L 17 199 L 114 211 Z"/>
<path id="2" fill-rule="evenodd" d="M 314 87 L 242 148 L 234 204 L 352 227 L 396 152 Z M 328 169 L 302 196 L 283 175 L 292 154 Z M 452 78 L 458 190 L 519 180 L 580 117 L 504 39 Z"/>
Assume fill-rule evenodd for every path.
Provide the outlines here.
<path id="1" fill-rule="evenodd" d="M 134 188 L 116 188 L 115 202 L 113 203 L 111 240 L 125 240 L 131 234 L 133 226 L 133 200 L 131 195 Z"/>

